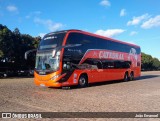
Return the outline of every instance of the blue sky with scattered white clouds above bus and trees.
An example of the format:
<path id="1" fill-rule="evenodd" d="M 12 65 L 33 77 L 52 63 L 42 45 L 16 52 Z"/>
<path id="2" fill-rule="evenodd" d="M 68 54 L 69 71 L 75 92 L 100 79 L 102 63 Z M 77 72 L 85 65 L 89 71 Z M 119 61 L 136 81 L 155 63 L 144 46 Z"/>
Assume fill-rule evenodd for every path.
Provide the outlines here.
<path id="1" fill-rule="evenodd" d="M 160 59 L 160 0 L 0 0 L 0 24 L 32 36 L 80 29 Z"/>

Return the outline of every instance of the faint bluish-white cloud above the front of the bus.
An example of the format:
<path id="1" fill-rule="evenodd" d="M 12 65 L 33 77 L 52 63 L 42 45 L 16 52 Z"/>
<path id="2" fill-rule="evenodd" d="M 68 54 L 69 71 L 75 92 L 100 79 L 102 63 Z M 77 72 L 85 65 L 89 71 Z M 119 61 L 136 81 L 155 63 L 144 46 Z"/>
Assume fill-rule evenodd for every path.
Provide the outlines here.
<path id="1" fill-rule="evenodd" d="M 61 29 L 61 28 L 64 27 L 64 25 L 62 23 L 54 23 L 50 19 L 44 20 L 44 19 L 40 19 L 40 18 L 35 18 L 34 22 L 36 24 L 42 24 L 42 25 L 44 25 L 50 31 L 57 31 L 57 30 L 59 30 L 59 29 Z"/>

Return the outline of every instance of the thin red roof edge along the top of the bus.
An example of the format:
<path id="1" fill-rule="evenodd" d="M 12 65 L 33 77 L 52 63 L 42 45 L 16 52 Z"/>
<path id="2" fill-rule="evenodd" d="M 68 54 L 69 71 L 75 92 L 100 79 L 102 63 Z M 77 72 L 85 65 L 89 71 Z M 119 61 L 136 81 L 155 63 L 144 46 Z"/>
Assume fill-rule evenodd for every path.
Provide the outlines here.
<path id="1" fill-rule="evenodd" d="M 98 34 L 86 32 L 86 31 L 78 30 L 78 29 L 69 29 L 69 30 L 55 31 L 55 32 L 48 33 L 48 34 L 46 34 L 46 35 L 51 35 L 51 34 L 54 34 L 54 33 L 64 33 L 64 32 L 66 32 L 66 33 L 67 33 L 67 32 L 83 33 L 83 34 L 87 34 L 87 35 L 90 35 L 90 36 L 95 36 L 95 37 L 98 37 L 98 38 L 107 39 L 107 40 L 110 40 L 110 41 L 114 41 L 114 42 L 118 42 L 118 43 L 122 43 L 122 44 L 126 44 L 126 45 L 131 45 L 131 46 L 135 46 L 135 47 L 140 48 L 140 46 L 135 45 L 135 44 L 132 44 L 132 43 L 128 43 L 128 42 L 116 40 L 116 39 L 113 39 L 113 38 L 101 36 L 101 35 L 98 35 Z M 45 36 L 46 36 L 46 35 L 45 35 Z"/>

